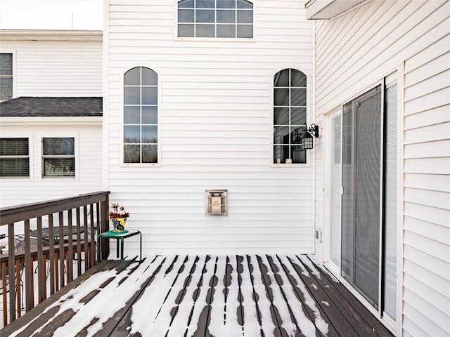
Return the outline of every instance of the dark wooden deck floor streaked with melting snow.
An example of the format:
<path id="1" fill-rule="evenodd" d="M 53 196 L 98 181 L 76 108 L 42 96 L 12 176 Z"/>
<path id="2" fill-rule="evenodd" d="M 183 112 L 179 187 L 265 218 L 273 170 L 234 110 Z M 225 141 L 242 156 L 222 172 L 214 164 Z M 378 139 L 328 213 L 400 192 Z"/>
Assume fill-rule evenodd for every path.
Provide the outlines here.
<path id="1" fill-rule="evenodd" d="M 103 261 L 6 336 L 392 336 L 310 256 Z"/>

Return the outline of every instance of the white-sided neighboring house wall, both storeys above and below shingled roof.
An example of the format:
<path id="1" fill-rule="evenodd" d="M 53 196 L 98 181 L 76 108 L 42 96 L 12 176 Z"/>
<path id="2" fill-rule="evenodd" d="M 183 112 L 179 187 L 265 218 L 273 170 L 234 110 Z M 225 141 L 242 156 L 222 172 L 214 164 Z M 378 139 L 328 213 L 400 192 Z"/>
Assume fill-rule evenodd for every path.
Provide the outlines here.
<path id="1" fill-rule="evenodd" d="M 102 41 L 102 32 L 1 30 L 0 53 L 13 53 L 14 98 L 101 97 Z M 15 109 L 16 114 L 0 111 L 1 138 L 30 139 L 30 178 L 0 178 L 0 206 L 101 190 L 102 118 L 92 117 L 91 111 L 86 117 L 68 117 L 73 116 L 70 106 L 63 107 L 49 105 L 43 111 L 39 105 L 38 112 L 26 105 L 24 112 Z M 75 138 L 75 178 L 42 178 L 42 137 Z"/>

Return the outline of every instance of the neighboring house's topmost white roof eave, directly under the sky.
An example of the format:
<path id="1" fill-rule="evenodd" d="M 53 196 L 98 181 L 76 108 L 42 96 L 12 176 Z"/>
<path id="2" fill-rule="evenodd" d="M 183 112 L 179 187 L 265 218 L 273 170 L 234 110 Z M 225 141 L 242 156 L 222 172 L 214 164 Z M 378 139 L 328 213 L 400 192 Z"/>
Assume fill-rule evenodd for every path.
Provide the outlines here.
<path id="1" fill-rule="evenodd" d="M 101 30 L 0 29 L 1 41 L 103 41 Z"/>

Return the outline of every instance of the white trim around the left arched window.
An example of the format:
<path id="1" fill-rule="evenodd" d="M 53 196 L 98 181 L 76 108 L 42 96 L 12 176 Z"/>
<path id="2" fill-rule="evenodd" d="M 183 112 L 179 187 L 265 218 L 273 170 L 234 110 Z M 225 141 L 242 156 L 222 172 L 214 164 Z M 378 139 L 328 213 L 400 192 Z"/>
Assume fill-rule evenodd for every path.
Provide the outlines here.
<path id="1" fill-rule="evenodd" d="M 135 67 L 146 67 L 158 74 L 158 163 L 124 163 L 124 75 Z M 124 67 L 120 72 L 120 163 L 121 167 L 160 167 L 161 166 L 161 73 L 160 70 L 143 63 L 133 63 L 129 67 Z"/>

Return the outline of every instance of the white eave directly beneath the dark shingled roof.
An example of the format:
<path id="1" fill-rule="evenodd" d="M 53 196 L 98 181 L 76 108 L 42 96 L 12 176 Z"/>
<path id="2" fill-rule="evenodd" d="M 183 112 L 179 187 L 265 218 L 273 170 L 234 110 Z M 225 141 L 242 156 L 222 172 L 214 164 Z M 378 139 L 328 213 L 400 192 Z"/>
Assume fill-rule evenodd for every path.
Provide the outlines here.
<path id="1" fill-rule="evenodd" d="M 1 128 L 5 126 L 101 126 L 103 117 L 0 117 Z"/>

